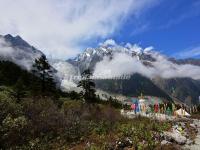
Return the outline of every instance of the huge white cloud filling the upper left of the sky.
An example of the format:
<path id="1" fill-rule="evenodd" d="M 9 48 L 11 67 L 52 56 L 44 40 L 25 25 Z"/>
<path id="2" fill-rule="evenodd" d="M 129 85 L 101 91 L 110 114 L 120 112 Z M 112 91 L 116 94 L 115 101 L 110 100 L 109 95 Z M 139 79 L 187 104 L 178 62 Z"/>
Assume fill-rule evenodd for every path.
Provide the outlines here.
<path id="1" fill-rule="evenodd" d="M 47 55 L 67 58 L 81 42 L 106 38 L 157 0 L 0 0 L 0 34 L 19 34 Z"/>

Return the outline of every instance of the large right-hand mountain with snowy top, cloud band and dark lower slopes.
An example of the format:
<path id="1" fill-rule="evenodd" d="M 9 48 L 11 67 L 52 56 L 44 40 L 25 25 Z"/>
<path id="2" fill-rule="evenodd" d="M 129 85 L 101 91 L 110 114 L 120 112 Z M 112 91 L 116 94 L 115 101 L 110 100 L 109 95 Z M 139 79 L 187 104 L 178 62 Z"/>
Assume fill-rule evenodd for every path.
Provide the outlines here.
<path id="1" fill-rule="evenodd" d="M 142 48 L 136 44 L 119 45 L 105 42 L 97 48 L 87 48 L 74 59 L 67 60 L 80 72 L 91 69 L 97 88 L 122 95 L 149 94 L 182 102 L 191 96 L 194 103 L 200 95 L 200 60 L 178 60 L 162 55 L 153 47 Z M 189 71 L 188 71 L 189 70 Z M 110 77 L 132 75 L 129 80 L 112 80 Z M 172 90 L 173 89 L 173 90 Z"/>

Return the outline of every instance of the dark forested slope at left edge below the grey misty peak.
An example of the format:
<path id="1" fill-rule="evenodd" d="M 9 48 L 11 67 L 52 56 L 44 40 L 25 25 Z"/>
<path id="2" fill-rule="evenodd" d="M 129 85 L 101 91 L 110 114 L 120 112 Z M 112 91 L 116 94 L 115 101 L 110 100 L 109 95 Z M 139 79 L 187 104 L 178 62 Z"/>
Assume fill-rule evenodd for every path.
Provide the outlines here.
<path id="1" fill-rule="evenodd" d="M 18 101 L 27 96 L 44 95 L 42 92 L 42 90 L 44 90 L 42 84 L 45 84 L 45 95 L 55 97 L 61 94 L 61 92 L 56 89 L 49 70 L 45 70 L 45 81 L 40 78 L 40 75 L 36 74 L 37 71 L 38 70 L 35 69 L 35 74 L 33 74 L 12 62 L 0 61 L 0 86 L 12 87 L 13 96 L 18 99 Z"/>

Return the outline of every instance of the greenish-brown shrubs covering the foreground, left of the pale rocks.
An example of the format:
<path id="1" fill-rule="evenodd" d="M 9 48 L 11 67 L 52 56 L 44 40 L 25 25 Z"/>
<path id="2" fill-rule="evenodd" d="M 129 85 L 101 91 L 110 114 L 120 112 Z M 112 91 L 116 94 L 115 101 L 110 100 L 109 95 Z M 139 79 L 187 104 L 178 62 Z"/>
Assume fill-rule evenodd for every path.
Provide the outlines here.
<path id="1" fill-rule="evenodd" d="M 105 149 L 108 135 L 118 139 L 129 137 L 138 149 L 153 149 L 155 133 L 169 128 L 168 123 L 142 117 L 127 120 L 109 105 L 88 105 L 64 98 L 61 108 L 51 98 L 25 98 L 17 102 L 10 95 L 11 88 L 3 89 L 0 144 L 4 149 L 62 149 L 88 139 L 94 140 L 89 149 Z"/>

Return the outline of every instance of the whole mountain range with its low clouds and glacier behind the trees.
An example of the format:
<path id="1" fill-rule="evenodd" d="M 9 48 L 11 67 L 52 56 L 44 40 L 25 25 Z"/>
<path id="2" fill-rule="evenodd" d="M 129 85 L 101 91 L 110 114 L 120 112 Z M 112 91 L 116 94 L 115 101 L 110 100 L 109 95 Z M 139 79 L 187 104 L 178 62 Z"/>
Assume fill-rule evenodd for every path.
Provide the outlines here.
<path id="1" fill-rule="evenodd" d="M 9 60 L 31 69 L 35 58 L 44 55 L 20 36 L 0 36 L 0 60 Z M 177 60 L 136 44 L 116 44 L 106 41 L 97 48 L 87 48 L 74 59 L 49 60 L 56 70 L 55 78 L 63 90 L 75 90 L 79 76 L 85 69 L 93 75 L 104 75 L 107 80 L 95 80 L 106 92 L 126 96 L 143 94 L 169 98 L 173 95 L 184 102 L 191 96 L 194 103 L 200 95 L 200 60 Z M 128 80 L 109 80 L 112 76 L 131 75 Z M 172 91 L 173 89 L 173 91 Z"/>

